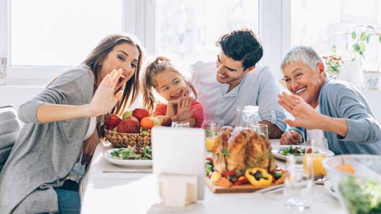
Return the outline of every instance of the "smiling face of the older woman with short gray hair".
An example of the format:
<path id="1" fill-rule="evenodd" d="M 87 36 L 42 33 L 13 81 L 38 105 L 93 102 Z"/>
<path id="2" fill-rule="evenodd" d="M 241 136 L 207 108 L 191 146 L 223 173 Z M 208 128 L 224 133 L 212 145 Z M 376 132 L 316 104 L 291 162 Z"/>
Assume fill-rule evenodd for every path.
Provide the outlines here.
<path id="1" fill-rule="evenodd" d="M 323 63 L 318 63 L 314 71 L 304 63 L 290 62 L 283 67 L 283 74 L 292 94 L 300 96 L 314 108 L 318 106 L 320 90 L 326 80 Z"/>

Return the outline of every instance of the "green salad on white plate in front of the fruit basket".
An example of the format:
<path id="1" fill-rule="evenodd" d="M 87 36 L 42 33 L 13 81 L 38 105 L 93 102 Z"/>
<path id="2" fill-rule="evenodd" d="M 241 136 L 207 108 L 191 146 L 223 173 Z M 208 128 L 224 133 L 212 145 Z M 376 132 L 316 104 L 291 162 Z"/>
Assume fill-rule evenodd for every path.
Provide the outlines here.
<path id="1" fill-rule="evenodd" d="M 152 148 L 150 146 L 136 149 L 128 146 L 111 152 L 112 159 L 119 160 L 152 160 Z"/>

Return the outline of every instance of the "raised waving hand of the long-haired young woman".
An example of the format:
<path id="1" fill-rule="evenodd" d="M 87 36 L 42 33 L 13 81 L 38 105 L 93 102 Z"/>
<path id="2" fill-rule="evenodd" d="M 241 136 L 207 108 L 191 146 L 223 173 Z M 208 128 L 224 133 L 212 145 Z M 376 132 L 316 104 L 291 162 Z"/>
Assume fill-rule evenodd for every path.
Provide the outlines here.
<path id="1" fill-rule="evenodd" d="M 122 69 L 118 71 L 114 69 L 103 78 L 89 104 L 92 116 L 107 114 L 121 99 L 122 90 L 114 95 L 115 87 L 121 75 Z"/>

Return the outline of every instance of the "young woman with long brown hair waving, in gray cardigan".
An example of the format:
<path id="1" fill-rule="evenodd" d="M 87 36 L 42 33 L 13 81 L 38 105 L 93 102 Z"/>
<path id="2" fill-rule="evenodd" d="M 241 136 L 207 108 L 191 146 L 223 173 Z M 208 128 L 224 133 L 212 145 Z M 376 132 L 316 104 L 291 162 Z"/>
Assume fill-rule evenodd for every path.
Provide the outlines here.
<path id="1" fill-rule="evenodd" d="M 78 192 L 65 188 L 78 178 L 77 157 L 83 151 L 88 163 L 99 143 L 97 116 L 120 113 L 136 99 L 142 58 L 135 39 L 109 35 L 19 108 L 25 124 L 0 173 L 0 213 L 79 213 Z"/>

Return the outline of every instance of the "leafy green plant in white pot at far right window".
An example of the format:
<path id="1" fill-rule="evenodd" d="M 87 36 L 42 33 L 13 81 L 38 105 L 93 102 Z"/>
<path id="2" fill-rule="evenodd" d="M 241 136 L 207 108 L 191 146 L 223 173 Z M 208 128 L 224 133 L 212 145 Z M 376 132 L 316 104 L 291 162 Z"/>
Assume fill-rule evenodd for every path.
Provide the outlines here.
<path id="1" fill-rule="evenodd" d="M 378 39 L 378 44 L 381 46 L 381 28 L 374 28 L 372 25 L 364 26 L 357 25 L 352 29 L 352 32 L 343 34 L 345 38 L 349 37 L 345 45 L 346 50 L 350 51 L 352 61 L 360 60 L 363 68 L 364 80 L 369 89 L 379 89 L 381 79 L 381 60 L 377 69 L 364 70 L 363 61 L 365 60 L 366 46 L 371 42 L 371 38 Z M 333 53 L 336 53 L 336 46 L 331 46 Z"/>

